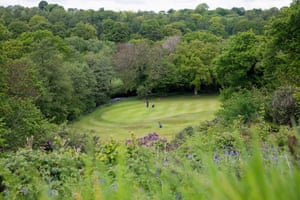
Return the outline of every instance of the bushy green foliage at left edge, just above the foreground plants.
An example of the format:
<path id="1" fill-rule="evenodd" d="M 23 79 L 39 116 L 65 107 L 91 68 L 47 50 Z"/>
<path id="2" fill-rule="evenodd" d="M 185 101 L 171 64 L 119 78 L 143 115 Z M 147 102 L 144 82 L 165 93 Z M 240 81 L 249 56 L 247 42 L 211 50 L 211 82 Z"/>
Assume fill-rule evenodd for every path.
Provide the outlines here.
<path id="1" fill-rule="evenodd" d="M 22 147 L 30 137 L 34 137 L 34 145 L 38 145 L 46 133 L 54 128 L 29 99 L 1 96 L 0 114 L 3 122 L 1 128 L 4 129 L 0 137 L 4 139 L 3 150 Z"/>

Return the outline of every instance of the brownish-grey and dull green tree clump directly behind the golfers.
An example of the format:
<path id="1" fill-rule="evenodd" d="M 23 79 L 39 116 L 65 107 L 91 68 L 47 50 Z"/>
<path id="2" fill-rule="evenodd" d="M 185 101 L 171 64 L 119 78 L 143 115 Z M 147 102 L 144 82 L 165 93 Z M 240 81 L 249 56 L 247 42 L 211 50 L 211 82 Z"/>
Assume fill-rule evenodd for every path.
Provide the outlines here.
<path id="1" fill-rule="evenodd" d="M 167 92 L 177 82 L 176 70 L 167 56 L 162 46 L 152 45 L 148 40 L 120 44 L 114 62 L 124 90 L 137 91 L 139 88 L 139 91 L 144 91 L 146 88 L 149 93 Z"/>

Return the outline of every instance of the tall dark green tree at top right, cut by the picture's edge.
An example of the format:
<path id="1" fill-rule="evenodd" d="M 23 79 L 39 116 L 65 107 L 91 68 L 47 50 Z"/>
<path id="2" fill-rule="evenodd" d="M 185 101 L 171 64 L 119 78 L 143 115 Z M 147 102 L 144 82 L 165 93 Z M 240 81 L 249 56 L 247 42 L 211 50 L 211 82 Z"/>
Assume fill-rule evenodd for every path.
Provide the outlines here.
<path id="1" fill-rule="evenodd" d="M 266 32 L 265 77 L 300 86 L 300 2 L 295 0 L 271 21 Z"/>

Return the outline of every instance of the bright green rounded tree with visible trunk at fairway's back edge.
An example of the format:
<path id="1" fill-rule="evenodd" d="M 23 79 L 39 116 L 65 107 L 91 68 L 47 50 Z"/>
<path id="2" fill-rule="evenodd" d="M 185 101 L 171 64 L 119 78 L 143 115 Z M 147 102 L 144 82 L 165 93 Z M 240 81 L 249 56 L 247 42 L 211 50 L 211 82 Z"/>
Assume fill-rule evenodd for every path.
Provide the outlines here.
<path id="1" fill-rule="evenodd" d="M 183 41 L 173 56 L 174 63 L 181 74 L 181 82 L 191 85 L 194 94 L 201 85 L 214 82 L 212 61 L 219 53 L 220 38 L 208 32 L 192 32 L 183 37 Z"/>

